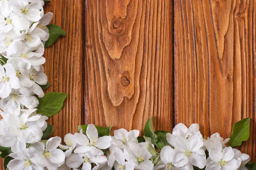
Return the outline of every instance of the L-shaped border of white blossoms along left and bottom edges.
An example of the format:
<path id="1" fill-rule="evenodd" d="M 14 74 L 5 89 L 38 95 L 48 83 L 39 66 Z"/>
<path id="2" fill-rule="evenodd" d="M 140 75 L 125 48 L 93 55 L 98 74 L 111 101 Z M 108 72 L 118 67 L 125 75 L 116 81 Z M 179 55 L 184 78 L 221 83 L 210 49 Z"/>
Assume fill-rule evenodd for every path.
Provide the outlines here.
<path id="1" fill-rule="evenodd" d="M 99 137 L 94 125 L 86 134 L 67 134 L 66 145 L 58 136 L 41 141 L 48 117 L 37 114 L 33 95 L 44 96 L 46 26 L 53 17 L 43 6 L 43 0 L 0 0 L 0 146 L 11 148 L 9 170 L 246 170 L 247 154 L 227 147 L 229 139 L 218 133 L 204 139 L 198 124 L 175 126 L 162 149 L 139 143 L 139 130 Z"/>

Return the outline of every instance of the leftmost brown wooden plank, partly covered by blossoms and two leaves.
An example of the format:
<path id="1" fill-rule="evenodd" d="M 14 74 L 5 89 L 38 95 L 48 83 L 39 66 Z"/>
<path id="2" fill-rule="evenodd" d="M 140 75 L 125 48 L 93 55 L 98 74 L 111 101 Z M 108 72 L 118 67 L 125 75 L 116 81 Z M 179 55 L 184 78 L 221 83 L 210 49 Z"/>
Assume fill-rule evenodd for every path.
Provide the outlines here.
<path id="1" fill-rule="evenodd" d="M 48 123 L 54 126 L 52 136 L 64 139 L 67 133 L 76 133 L 84 124 L 84 1 L 53 0 L 45 6 L 52 12 L 52 23 L 66 31 L 51 47 L 46 48 L 45 72 L 52 85 L 47 92 L 58 91 L 68 95 L 64 107 Z"/>

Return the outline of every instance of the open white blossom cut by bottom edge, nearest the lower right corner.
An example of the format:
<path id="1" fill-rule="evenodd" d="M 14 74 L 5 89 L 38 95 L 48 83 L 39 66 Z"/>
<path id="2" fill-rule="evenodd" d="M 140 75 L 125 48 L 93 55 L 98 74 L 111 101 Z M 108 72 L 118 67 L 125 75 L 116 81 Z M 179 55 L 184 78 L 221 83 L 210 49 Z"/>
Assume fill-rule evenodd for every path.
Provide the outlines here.
<path id="1" fill-rule="evenodd" d="M 214 147 L 209 151 L 208 159 L 210 163 L 207 165 L 206 170 L 236 170 L 239 166 L 234 156 L 235 153 L 232 147 L 226 147 L 224 150 Z"/>

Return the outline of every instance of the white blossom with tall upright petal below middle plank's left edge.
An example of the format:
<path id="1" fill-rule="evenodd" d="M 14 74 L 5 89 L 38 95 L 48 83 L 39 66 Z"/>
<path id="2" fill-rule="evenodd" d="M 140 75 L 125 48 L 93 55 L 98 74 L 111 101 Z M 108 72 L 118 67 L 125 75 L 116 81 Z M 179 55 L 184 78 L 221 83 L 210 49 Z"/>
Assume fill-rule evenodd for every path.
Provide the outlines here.
<path id="1" fill-rule="evenodd" d="M 88 125 L 86 134 L 87 136 L 83 133 L 75 133 L 76 142 L 81 146 L 77 147 L 76 150 L 74 150 L 74 153 L 90 153 L 90 155 L 102 153 L 103 155 L 101 149 L 107 149 L 110 147 L 111 136 L 99 137 L 95 125 Z"/>

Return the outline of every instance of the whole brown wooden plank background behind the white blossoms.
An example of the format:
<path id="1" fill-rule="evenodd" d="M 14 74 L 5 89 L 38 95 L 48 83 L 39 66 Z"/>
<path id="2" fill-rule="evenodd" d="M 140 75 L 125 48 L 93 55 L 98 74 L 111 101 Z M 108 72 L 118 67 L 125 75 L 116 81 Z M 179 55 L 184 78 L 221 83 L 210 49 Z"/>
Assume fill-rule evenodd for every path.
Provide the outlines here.
<path id="1" fill-rule="evenodd" d="M 199 123 L 227 138 L 251 118 L 241 149 L 256 161 L 255 0 L 52 0 L 61 37 L 44 57 L 48 91 L 69 96 L 52 136 L 77 125 L 157 130 Z"/>

